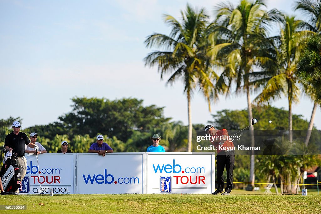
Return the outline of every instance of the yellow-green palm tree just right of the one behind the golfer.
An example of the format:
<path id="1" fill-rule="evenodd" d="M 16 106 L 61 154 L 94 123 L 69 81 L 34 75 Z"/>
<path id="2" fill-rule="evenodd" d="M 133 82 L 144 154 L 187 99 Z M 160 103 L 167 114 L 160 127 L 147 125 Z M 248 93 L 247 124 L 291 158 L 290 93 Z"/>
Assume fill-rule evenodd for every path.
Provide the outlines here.
<path id="1" fill-rule="evenodd" d="M 256 101 L 269 103 L 271 100 L 281 98 L 282 95 L 288 97 L 289 140 L 292 141 L 292 103 L 298 102 L 300 95 L 300 83 L 294 74 L 294 68 L 308 31 L 300 31 L 302 21 L 296 20 L 294 16 L 284 15 L 281 21 L 283 26 L 277 52 L 278 69 L 276 74 L 267 81 Z"/>

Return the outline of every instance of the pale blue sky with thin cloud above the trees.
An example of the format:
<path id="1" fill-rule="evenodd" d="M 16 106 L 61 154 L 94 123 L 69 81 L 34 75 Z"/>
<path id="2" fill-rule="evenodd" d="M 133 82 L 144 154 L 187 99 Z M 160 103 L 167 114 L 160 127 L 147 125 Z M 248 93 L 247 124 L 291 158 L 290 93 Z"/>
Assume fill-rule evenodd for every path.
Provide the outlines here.
<path id="1" fill-rule="evenodd" d="M 188 1 L 193 7 L 205 7 L 211 18 L 220 2 Z M 292 11 L 293 2 L 266 4 L 268 9 L 300 16 Z M 183 0 L 0 0 L 0 118 L 20 116 L 23 127 L 48 124 L 70 112 L 71 98 L 76 96 L 131 97 L 143 99 L 146 106 L 165 107 L 165 116 L 187 124 L 183 85 L 166 86 L 156 67 L 143 63 L 153 50 L 143 41 L 154 32 L 168 33 L 163 14 L 179 19 L 186 4 Z M 288 109 L 286 98 L 272 105 Z M 206 124 L 217 110 L 246 107 L 245 96 L 231 95 L 212 104 L 209 112 L 205 99 L 195 93 L 192 122 Z M 309 120 L 312 107 L 308 98 L 301 98 L 293 113 Z M 315 125 L 321 129 L 320 109 Z"/>

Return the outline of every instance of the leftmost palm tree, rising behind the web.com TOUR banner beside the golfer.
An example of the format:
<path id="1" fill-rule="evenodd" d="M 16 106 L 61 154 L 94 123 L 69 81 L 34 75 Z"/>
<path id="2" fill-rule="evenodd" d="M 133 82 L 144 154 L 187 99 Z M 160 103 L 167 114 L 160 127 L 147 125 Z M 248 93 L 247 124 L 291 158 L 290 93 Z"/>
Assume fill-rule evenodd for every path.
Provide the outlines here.
<path id="1" fill-rule="evenodd" d="M 165 15 L 165 22 L 171 27 L 169 35 L 155 33 L 145 40 L 146 47 L 160 47 L 164 51 L 154 51 L 144 58 L 145 66 L 158 65 L 160 78 L 170 74 L 167 83 L 184 82 L 188 108 L 188 146 L 192 151 L 191 98 L 198 88 L 209 104 L 217 95 L 213 92 L 213 81 L 217 74 L 211 68 L 210 57 L 206 56 L 209 46 L 207 27 L 209 17 L 204 8 L 196 11 L 188 4 L 186 11 L 181 11 L 182 21 Z"/>

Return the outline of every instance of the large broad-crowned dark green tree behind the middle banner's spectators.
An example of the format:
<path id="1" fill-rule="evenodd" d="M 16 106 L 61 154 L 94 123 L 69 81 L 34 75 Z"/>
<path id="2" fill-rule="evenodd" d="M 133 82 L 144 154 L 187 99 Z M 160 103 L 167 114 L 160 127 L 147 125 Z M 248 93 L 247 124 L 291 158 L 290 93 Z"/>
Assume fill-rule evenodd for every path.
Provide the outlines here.
<path id="1" fill-rule="evenodd" d="M 71 138 L 85 134 L 95 137 L 97 133 L 103 133 L 126 141 L 134 130 L 148 131 L 170 119 L 163 116 L 163 107 L 143 107 L 143 100 L 135 98 L 113 101 L 105 98 L 72 100 L 72 112 L 59 117 L 64 132 Z"/>

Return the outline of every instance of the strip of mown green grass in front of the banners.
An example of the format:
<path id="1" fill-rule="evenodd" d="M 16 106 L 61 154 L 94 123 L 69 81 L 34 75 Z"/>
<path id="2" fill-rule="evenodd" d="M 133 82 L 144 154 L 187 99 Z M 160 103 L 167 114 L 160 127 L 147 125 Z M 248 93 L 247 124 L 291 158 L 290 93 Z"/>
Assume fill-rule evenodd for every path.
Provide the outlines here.
<path id="1" fill-rule="evenodd" d="M 207 194 L 4 195 L 0 196 L 0 204 L 27 205 L 27 210 L 0 210 L 0 213 L 258 214 L 320 213 L 321 210 L 320 195 L 263 195 L 243 190 L 233 190 L 232 193 L 229 196 Z M 39 203 L 45 205 L 38 205 Z"/>

